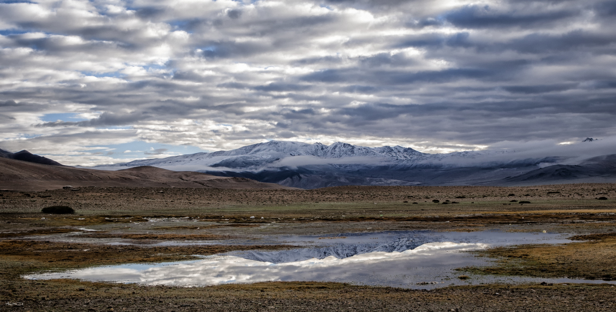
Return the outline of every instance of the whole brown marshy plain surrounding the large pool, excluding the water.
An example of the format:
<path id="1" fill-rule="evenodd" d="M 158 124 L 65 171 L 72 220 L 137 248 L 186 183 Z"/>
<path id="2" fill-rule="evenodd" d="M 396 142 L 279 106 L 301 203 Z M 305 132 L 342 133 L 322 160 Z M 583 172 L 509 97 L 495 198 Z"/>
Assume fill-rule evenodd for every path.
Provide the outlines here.
<path id="1" fill-rule="evenodd" d="M 79 188 L 0 193 L 0 297 L 23 303 L 4 305 L 3 311 L 614 310 L 616 287 L 607 284 L 408 290 L 331 282 L 264 282 L 182 288 L 20 277 L 41 270 L 172 262 L 189 260 L 196 254 L 293 247 L 261 244 L 260 238 L 269 234 L 498 229 L 572 233 L 580 241 L 484 250 L 477 255 L 492 257 L 493 265 L 461 268 L 460 274 L 610 280 L 616 279 L 613 184 L 345 186 L 320 190 Z M 598 199 L 601 197 L 607 199 Z M 76 214 L 40 213 L 41 208 L 52 205 L 73 207 Z M 152 218 L 182 221 L 160 226 L 147 221 Z M 79 239 L 59 239 L 67 233 L 78 233 Z M 253 242 L 155 245 L 235 238 Z"/>

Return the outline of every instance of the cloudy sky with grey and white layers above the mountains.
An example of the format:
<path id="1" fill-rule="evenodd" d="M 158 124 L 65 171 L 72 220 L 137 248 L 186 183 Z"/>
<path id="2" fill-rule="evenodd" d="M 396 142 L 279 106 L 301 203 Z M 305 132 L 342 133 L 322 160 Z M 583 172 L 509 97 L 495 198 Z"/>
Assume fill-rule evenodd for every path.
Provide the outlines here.
<path id="1" fill-rule="evenodd" d="M 0 148 L 65 164 L 557 145 L 615 114 L 613 0 L 0 1 Z"/>

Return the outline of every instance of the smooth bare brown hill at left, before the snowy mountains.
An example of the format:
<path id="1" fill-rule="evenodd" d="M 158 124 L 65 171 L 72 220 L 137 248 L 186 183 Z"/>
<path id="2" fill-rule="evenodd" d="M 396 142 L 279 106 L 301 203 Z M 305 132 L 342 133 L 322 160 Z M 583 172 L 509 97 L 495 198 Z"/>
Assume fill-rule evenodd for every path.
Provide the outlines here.
<path id="1" fill-rule="evenodd" d="M 217 177 L 192 171 L 171 171 L 152 166 L 134 167 L 118 171 L 83 169 L 68 166 L 50 166 L 34 162 L 0 158 L 0 189 L 17 191 L 44 191 L 65 185 L 124 186 L 124 187 L 176 187 L 176 188 L 265 188 L 293 189 L 274 183 L 263 183 L 249 178 Z"/>

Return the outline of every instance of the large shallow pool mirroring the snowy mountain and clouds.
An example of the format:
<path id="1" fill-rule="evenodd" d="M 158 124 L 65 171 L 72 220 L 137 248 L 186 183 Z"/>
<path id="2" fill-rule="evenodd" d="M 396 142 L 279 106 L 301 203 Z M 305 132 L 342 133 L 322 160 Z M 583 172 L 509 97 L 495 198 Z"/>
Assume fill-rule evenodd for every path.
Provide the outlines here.
<path id="1" fill-rule="evenodd" d="M 336 236 L 272 236 L 266 240 L 279 244 L 303 244 L 306 247 L 270 252 L 230 252 L 187 262 L 102 266 L 24 277 L 176 286 L 334 281 L 413 289 L 492 282 L 605 282 L 500 276 L 471 276 L 471 279 L 463 281 L 457 278 L 462 273 L 453 271 L 463 266 L 490 264 L 489 259 L 475 257 L 465 251 L 513 244 L 570 242 L 567 236 L 569 234 L 503 231 L 389 231 Z M 609 283 L 616 284 L 615 281 Z"/>

